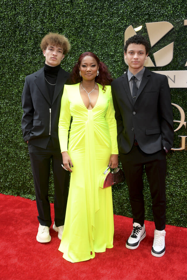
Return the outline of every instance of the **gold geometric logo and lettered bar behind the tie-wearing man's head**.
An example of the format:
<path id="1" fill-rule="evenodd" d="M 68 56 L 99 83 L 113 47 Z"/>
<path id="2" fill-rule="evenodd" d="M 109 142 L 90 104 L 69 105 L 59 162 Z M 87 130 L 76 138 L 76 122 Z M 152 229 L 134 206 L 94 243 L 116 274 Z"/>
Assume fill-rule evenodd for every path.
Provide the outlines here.
<path id="1" fill-rule="evenodd" d="M 184 20 L 184 26 L 187 26 L 187 20 Z M 149 36 L 151 47 L 153 47 L 158 41 L 160 41 L 169 31 L 173 29 L 173 25 L 167 21 L 161 22 L 148 22 L 146 23 L 146 29 Z M 141 29 L 141 28 L 140 28 Z M 137 30 L 132 25 L 127 27 L 124 33 L 124 43 L 128 38 L 136 34 Z M 136 31 L 135 31 L 136 30 Z M 168 65 L 173 59 L 174 42 L 170 42 L 164 48 L 153 53 L 154 63 L 148 56 L 145 61 L 146 67 L 163 67 Z M 128 65 L 127 60 L 124 58 L 125 63 Z M 187 62 L 185 64 L 187 66 Z M 187 88 L 187 71 L 153 71 L 159 74 L 166 75 L 170 88 Z"/>

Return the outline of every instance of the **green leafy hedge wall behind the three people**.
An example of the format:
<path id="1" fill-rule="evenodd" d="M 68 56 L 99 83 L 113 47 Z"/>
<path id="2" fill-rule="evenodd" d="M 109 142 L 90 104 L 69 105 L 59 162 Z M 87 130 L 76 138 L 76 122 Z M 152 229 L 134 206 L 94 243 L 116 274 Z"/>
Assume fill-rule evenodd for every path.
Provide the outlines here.
<path id="1" fill-rule="evenodd" d="M 123 60 L 124 31 L 132 24 L 143 25 L 139 33 L 148 38 L 146 22 L 168 21 L 174 25 L 160 42 L 150 50 L 153 53 L 174 41 L 172 62 L 150 70 L 186 70 L 187 19 L 185 0 L 99 0 L 99 1 L 29 1 L 2 0 L 0 6 L 0 104 L 1 104 L 1 170 L 0 192 L 34 199 L 30 159 L 21 132 L 21 94 L 25 76 L 44 65 L 39 48 L 41 38 L 51 32 L 67 36 L 71 50 L 63 60 L 63 67 L 71 71 L 79 55 L 92 51 L 105 62 L 117 78 L 127 69 Z M 172 89 L 172 103 L 181 106 L 187 114 L 186 89 Z M 174 119 L 180 114 L 174 108 Z M 175 124 L 177 127 L 177 124 Z M 178 135 L 187 135 L 183 127 L 175 134 L 174 146 L 180 145 Z M 186 150 L 167 155 L 167 223 L 187 227 L 186 214 Z M 151 198 L 144 176 L 146 219 L 153 220 Z M 50 201 L 53 201 L 53 178 L 50 177 Z M 131 217 L 126 183 L 113 187 L 114 213 Z"/>

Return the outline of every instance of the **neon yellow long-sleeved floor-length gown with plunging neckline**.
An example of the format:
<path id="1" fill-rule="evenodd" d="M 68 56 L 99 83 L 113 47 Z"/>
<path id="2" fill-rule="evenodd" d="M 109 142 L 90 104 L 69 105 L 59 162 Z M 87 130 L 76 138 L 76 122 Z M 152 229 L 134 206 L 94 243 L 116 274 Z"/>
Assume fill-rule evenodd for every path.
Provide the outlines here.
<path id="1" fill-rule="evenodd" d="M 113 247 L 114 221 L 111 187 L 99 188 L 110 155 L 118 154 L 117 128 L 110 86 L 98 84 L 96 105 L 88 110 L 79 92 L 79 83 L 65 85 L 59 118 L 61 151 L 67 151 L 73 167 L 65 224 L 59 251 L 70 262 L 95 257 Z"/>

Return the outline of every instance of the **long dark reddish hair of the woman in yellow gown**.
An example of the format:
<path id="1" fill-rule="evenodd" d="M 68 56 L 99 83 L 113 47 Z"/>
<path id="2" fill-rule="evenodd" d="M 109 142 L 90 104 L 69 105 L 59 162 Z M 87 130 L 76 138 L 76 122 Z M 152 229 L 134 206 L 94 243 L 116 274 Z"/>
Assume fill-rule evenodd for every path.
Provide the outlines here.
<path id="1" fill-rule="evenodd" d="M 98 66 L 99 66 L 99 75 L 96 76 L 95 81 L 96 81 L 96 83 L 101 84 L 103 86 L 103 90 L 105 91 L 105 85 L 110 85 L 112 83 L 113 79 L 110 75 L 110 72 L 108 71 L 108 67 L 106 66 L 106 64 L 101 62 L 98 59 L 98 57 L 94 53 L 91 53 L 91 52 L 82 53 L 82 55 L 79 56 L 79 60 L 75 64 L 75 66 L 73 67 L 73 70 L 72 70 L 71 83 L 77 84 L 82 81 L 82 77 L 79 75 L 79 67 L 80 67 L 81 61 L 83 60 L 83 58 L 85 56 L 91 56 L 96 60 Z"/>

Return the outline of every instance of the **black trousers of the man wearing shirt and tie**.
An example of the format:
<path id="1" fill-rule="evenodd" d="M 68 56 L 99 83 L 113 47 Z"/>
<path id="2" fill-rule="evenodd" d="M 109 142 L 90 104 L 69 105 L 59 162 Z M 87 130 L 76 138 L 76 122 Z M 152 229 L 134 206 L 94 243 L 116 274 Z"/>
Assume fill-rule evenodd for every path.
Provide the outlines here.
<path id="1" fill-rule="evenodd" d="M 155 227 L 164 230 L 166 223 L 166 153 L 162 149 L 153 154 L 144 153 L 139 146 L 133 146 L 128 154 L 119 153 L 124 169 L 133 223 L 144 224 L 143 168 L 149 182 Z"/>

